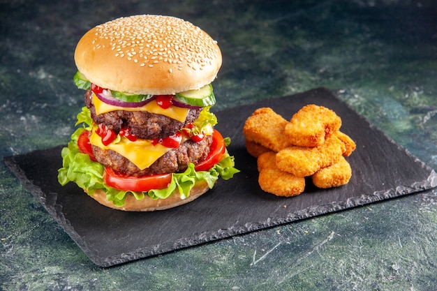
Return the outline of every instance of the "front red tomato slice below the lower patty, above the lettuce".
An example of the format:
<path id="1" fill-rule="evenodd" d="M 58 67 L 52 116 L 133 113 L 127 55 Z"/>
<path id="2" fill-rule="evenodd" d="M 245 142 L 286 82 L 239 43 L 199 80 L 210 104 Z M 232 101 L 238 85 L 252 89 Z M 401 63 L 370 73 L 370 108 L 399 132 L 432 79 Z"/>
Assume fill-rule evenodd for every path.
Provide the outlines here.
<path id="1" fill-rule="evenodd" d="M 117 174 L 111 168 L 105 167 L 103 181 L 112 188 L 141 192 L 152 189 L 167 188 L 172 181 L 172 174 L 155 174 L 150 176 L 133 177 L 124 174 Z"/>

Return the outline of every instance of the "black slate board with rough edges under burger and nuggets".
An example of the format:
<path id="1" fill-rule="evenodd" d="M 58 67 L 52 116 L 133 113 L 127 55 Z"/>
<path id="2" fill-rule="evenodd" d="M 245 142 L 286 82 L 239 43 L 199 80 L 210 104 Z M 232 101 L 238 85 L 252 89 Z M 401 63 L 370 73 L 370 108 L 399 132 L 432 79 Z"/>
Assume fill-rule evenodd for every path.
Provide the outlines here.
<path id="1" fill-rule="evenodd" d="M 307 184 L 297 197 L 276 197 L 258 186 L 255 158 L 246 153 L 242 127 L 258 107 L 272 107 L 284 118 L 314 103 L 334 110 L 341 130 L 357 143 L 348 158 L 349 184 L 320 190 Z M 232 139 L 228 148 L 241 170 L 230 181 L 198 200 L 165 211 L 132 213 L 103 207 L 75 184 L 60 186 L 61 148 L 5 158 L 6 165 L 40 201 L 88 257 L 101 267 L 195 246 L 235 234 L 424 191 L 437 186 L 437 175 L 392 142 L 327 89 L 262 100 L 217 112 L 216 128 Z"/>

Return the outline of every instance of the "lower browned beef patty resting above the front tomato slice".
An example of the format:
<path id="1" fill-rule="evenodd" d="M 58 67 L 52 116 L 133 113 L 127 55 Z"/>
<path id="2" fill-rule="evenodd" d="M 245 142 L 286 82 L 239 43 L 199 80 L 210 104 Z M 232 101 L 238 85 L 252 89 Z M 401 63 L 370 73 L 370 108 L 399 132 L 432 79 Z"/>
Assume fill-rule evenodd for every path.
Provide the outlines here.
<path id="1" fill-rule="evenodd" d="M 145 170 L 140 170 L 135 164 L 124 156 L 110 149 L 101 149 L 92 146 L 93 154 L 98 163 L 105 167 L 111 167 L 115 172 L 129 176 L 142 176 L 147 174 L 166 174 L 172 172 L 183 172 L 188 163 L 199 163 L 209 154 L 209 147 L 212 143 L 212 136 L 206 136 L 200 142 L 187 140 L 177 149 L 170 149 L 161 158 L 155 161 Z"/>

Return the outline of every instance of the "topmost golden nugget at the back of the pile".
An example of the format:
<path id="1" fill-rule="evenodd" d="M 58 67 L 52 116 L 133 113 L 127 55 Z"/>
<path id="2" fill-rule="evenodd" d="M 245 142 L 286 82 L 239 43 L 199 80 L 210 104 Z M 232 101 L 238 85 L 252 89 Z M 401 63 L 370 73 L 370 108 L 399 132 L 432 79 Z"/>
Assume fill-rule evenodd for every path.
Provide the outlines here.
<path id="1" fill-rule="evenodd" d="M 326 135 L 341 127 L 341 118 L 323 106 L 306 105 L 296 112 L 284 133 L 288 142 L 298 147 L 318 147 L 325 142 Z"/>

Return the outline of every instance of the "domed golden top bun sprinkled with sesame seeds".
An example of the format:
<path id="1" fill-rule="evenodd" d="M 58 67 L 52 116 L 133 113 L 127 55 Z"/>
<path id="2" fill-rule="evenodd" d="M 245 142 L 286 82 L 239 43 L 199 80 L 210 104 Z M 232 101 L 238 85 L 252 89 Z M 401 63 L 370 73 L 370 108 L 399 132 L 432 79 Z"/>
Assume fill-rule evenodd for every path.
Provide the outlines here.
<path id="1" fill-rule="evenodd" d="M 205 31 L 176 17 L 134 15 L 80 39 L 75 63 L 92 83 L 132 94 L 175 94 L 211 83 L 221 52 Z"/>

